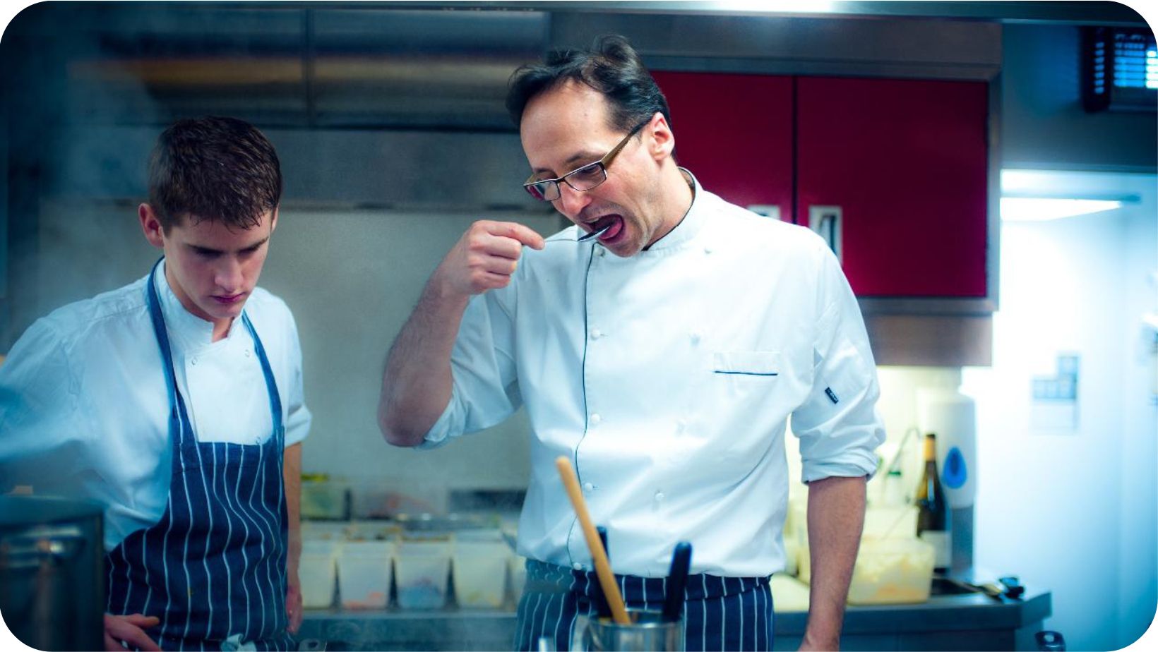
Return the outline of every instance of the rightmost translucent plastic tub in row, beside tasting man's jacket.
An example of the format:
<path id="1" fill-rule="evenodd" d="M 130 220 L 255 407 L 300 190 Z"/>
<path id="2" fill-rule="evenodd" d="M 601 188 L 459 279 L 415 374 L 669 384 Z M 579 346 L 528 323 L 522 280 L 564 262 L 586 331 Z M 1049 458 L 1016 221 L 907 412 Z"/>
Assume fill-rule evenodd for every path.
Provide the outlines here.
<path id="1" fill-rule="evenodd" d="M 459 606 L 501 607 L 510 559 L 511 547 L 497 529 L 455 533 L 450 577 Z"/>

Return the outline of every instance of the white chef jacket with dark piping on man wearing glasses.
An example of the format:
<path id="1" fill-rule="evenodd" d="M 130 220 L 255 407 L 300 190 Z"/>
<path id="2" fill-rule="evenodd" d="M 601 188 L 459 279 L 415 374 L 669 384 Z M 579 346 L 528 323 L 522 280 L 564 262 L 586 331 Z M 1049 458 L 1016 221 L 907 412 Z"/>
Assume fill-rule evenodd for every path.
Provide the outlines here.
<path id="1" fill-rule="evenodd" d="M 690 173 L 688 174 L 690 178 Z M 616 572 L 784 569 L 787 418 L 802 479 L 871 475 L 884 441 L 875 365 L 826 243 L 705 192 L 629 258 L 574 242 L 523 249 L 511 284 L 471 299 L 452 398 L 423 447 L 526 405 L 532 477 L 521 555 L 589 570 L 554 460 L 566 455 Z"/>

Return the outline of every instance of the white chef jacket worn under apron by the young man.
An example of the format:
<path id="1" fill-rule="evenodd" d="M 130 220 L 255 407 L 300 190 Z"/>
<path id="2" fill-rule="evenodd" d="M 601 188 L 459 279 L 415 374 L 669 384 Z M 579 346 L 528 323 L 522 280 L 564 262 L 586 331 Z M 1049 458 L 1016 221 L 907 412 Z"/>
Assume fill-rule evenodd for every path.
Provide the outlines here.
<path id="1" fill-rule="evenodd" d="M 169 496 L 169 397 L 145 302 L 148 277 L 37 320 L 0 365 L 0 491 L 30 484 L 45 496 L 105 506 L 104 545 L 155 523 Z M 199 441 L 261 444 L 270 400 L 248 329 L 213 324 L 182 307 L 156 273 L 177 387 Z M 285 445 L 309 432 L 301 347 L 290 308 L 255 288 L 245 313 L 281 394 Z"/>

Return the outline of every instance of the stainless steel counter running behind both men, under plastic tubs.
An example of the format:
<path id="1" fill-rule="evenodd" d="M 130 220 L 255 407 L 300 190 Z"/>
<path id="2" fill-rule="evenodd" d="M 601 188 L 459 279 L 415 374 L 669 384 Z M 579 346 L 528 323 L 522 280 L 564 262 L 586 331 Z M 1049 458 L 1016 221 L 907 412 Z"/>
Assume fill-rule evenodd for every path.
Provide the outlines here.
<path id="1" fill-rule="evenodd" d="M 1033 635 L 1050 615 L 1049 592 L 998 602 L 982 595 L 936 595 L 921 605 L 849 607 L 843 650 L 1036 650 Z M 796 650 L 807 614 L 777 611 L 775 650 Z M 515 614 L 504 610 L 433 611 L 308 609 L 302 649 L 510 650 Z"/>

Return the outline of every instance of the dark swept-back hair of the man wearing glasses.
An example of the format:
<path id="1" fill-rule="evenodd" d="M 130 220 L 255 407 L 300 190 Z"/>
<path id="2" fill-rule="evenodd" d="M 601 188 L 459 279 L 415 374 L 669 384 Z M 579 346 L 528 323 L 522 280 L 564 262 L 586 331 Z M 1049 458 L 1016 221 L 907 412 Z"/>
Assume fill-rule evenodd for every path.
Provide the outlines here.
<path id="1" fill-rule="evenodd" d="M 532 98 L 567 81 L 585 83 L 607 97 L 609 126 L 618 131 L 631 130 L 655 111 L 664 113 L 668 124 L 672 122 L 667 100 L 639 54 L 626 38 L 608 35 L 596 38 L 591 50 L 554 50 L 542 64 L 519 67 L 511 75 L 506 101 L 515 126 Z"/>

